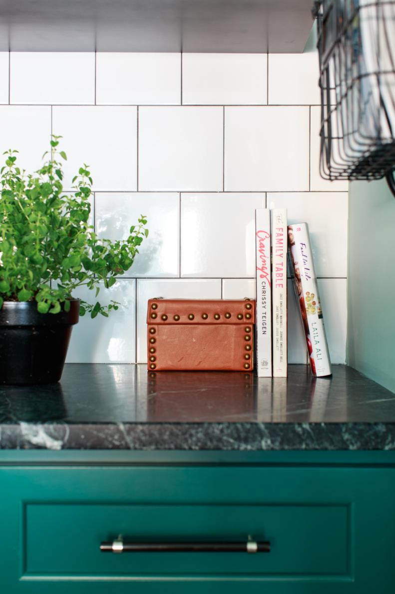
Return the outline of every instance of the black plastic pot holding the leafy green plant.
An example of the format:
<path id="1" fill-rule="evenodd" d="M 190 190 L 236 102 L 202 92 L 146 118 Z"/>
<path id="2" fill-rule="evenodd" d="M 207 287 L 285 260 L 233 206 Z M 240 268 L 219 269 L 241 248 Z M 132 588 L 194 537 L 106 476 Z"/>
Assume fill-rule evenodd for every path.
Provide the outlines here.
<path id="1" fill-rule="evenodd" d="M 36 301 L 5 301 L 0 309 L 0 384 L 52 384 L 62 377 L 79 299 L 70 311 L 40 314 Z"/>

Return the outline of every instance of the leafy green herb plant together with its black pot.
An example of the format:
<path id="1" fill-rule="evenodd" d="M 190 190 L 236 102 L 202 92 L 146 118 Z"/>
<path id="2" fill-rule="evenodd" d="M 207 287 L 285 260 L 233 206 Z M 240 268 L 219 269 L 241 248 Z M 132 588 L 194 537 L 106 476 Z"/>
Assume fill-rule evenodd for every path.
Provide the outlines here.
<path id="1" fill-rule="evenodd" d="M 95 301 L 129 270 L 148 236 L 144 215 L 128 239 L 98 238 L 89 224 L 93 184 L 88 166 L 63 192 L 59 136 L 52 136 L 48 160 L 33 174 L 17 166 L 9 150 L 0 170 L 0 383 L 59 381 L 72 325 L 90 312 L 108 316 L 118 308 Z M 43 158 L 48 153 L 44 153 Z M 93 290 L 92 303 L 73 298 L 77 287 Z"/>

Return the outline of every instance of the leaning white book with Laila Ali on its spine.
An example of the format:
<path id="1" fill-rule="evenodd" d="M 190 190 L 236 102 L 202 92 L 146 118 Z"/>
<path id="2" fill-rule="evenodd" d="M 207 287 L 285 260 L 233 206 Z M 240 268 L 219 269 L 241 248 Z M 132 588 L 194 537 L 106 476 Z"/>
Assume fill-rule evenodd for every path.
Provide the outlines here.
<path id="1" fill-rule="evenodd" d="M 320 295 L 318 294 L 317 277 L 314 270 L 307 223 L 289 225 L 288 245 L 291 252 L 290 265 L 293 268 L 295 293 L 297 293 L 302 315 L 311 371 L 317 377 L 331 375 L 332 370 L 324 318 Z"/>

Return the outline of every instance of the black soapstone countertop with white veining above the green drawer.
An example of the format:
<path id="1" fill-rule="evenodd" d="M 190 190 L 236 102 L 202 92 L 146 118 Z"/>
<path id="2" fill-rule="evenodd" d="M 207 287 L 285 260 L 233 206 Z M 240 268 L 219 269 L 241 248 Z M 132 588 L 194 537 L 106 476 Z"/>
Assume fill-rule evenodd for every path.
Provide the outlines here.
<path id="1" fill-rule="evenodd" d="M 0 387 L 0 449 L 395 450 L 395 394 L 330 378 L 68 364 L 59 384 Z"/>

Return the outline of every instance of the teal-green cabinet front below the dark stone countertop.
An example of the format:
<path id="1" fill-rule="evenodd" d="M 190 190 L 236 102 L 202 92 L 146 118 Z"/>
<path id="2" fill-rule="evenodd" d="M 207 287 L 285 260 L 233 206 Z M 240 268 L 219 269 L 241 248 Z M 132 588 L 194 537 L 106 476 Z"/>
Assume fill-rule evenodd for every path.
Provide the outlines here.
<path id="1" fill-rule="evenodd" d="M 349 454 L 349 453 L 348 453 Z M 7 594 L 365 594 L 395 581 L 393 454 L 198 453 L 0 466 Z M 82 453 L 81 453 L 82 456 Z M 218 458 L 218 457 L 217 457 Z M 77 457 L 75 458 L 78 459 Z M 173 460 L 173 462 L 172 462 Z M 128 542 L 269 541 L 265 553 L 101 552 Z"/>

